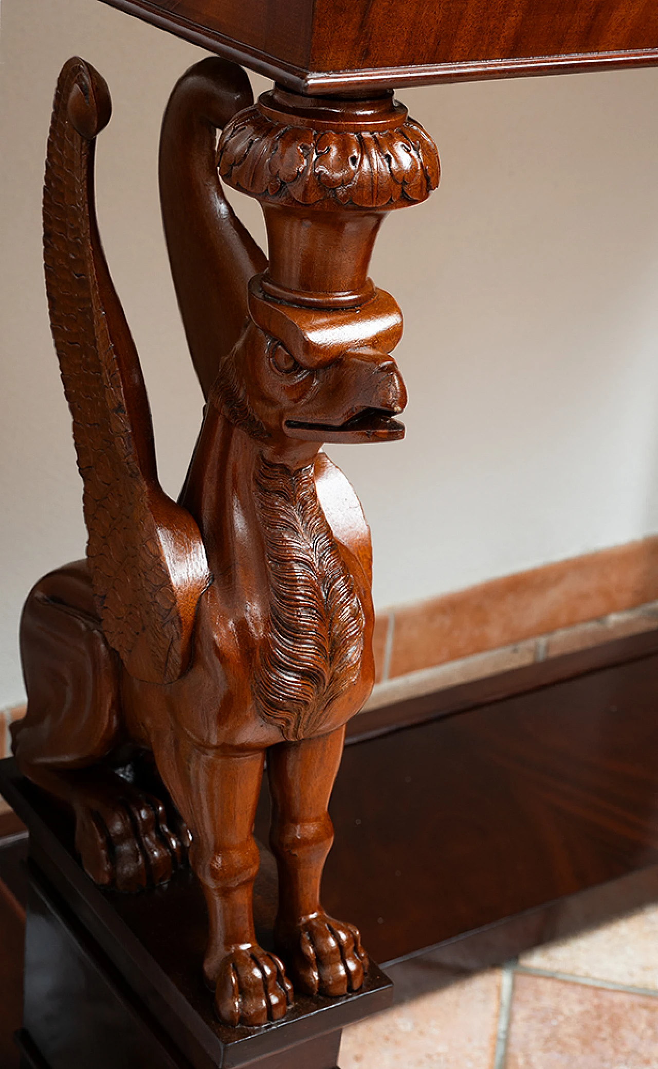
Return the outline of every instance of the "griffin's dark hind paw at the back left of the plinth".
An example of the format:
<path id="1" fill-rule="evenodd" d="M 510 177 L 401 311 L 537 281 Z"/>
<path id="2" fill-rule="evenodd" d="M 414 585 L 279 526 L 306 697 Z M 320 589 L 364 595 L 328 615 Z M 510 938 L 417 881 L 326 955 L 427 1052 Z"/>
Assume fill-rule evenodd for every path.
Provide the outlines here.
<path id="1" fill-rule="evenodd" d="M 84 870 L 100 886 L 135 892 L 166 883 L 182 861 L 178 838 L 167 824 L 159 799 L 125 785 L 116 793 L 80 799 L 76 850 Z"/>

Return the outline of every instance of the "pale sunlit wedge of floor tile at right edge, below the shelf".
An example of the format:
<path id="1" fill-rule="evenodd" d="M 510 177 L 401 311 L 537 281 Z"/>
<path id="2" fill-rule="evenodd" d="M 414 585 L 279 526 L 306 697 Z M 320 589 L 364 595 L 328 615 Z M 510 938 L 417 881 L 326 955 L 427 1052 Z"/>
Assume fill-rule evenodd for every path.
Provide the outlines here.
<path id="1" fill-rule="evenodd" d="M 537 947 L 522 955 L 520 963 L 658 991 L 658 905 L 582 935 Z"/>

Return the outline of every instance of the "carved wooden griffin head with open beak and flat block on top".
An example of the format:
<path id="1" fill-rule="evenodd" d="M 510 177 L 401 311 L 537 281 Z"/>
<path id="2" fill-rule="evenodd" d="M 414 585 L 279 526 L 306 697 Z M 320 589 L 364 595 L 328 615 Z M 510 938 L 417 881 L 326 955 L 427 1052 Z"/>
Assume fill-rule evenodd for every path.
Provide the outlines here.
<path id="1" fill-rule="evenodd" d="M 279 460 L 300 443 L 398 440 L 407 392 L 390 350 L 401 335 L 400 309 L 382 290 L 357 309 L 312 309 L 268 299 L 255 276 L 209 400 Z"/>

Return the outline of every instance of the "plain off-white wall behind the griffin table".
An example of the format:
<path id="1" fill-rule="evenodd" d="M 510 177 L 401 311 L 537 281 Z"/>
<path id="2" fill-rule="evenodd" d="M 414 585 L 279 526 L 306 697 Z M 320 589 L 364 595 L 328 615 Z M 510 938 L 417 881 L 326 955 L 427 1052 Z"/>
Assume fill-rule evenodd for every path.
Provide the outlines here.
<path id="1" fill-rule="evenodd" d="M 100 227 L 175 495 L 201 394 L 169 279 L 157 141 L 169 91 L 202 53 L 97 0 L 3 0 L 0 29 L 1 708 L 22 697 L 29 587 L 84 552 L 41 266 L 56 78 L 78 52 L 112 91 Z M 372 266 L 405 313 L 407 438 L 331 450 L 371 522 L 378 606 L 658 530 L 658 71 L 401 96 L 443 165 L 428 203 L 389 218 Z"/>

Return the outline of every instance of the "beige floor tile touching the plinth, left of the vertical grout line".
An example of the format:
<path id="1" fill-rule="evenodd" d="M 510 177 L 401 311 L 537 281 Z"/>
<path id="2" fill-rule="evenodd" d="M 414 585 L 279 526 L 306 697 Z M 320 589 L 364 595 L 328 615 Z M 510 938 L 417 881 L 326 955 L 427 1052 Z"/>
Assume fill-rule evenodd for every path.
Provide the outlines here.
<path id="1" fill-rule="evenodd" d="M 346 1028 L 341 1069 L 491 1069 L 500 974 L 476 973 Z"/>

